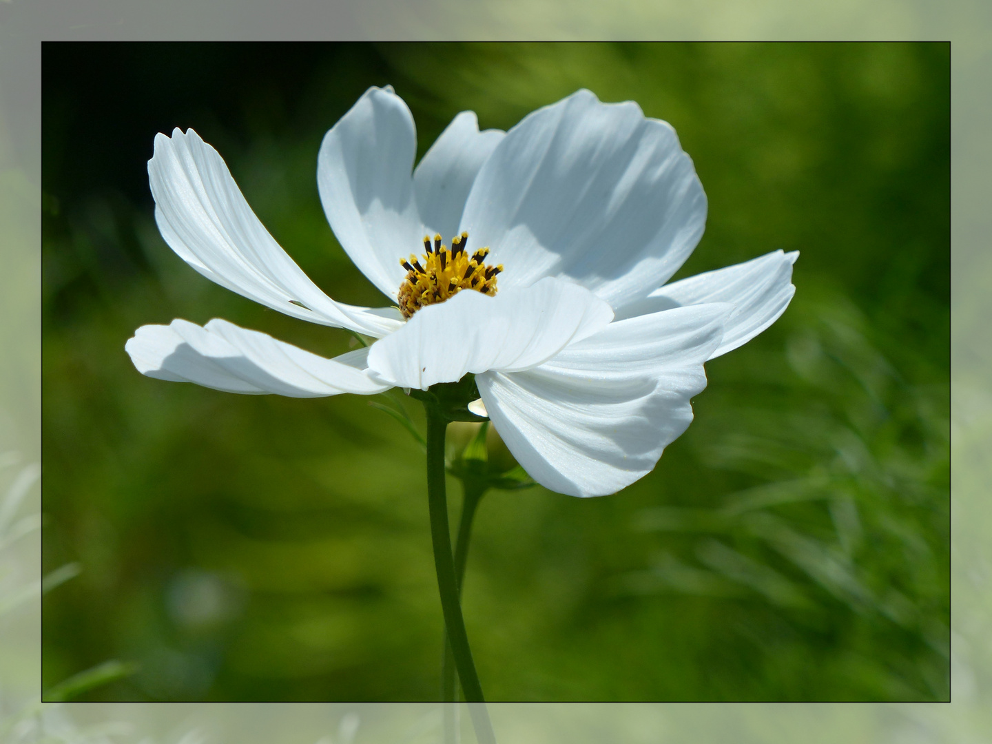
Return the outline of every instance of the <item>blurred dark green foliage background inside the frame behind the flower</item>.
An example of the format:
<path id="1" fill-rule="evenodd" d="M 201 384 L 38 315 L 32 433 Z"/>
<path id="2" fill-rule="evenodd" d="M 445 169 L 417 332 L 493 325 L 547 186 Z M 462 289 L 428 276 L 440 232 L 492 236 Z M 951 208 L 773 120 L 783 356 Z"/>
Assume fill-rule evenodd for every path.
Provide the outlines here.
<path id="1" fill-rule="evenodd" d="M 83 699 L 437 698 L 413 438 L 364 398 L 155 381 L 123 350 L 215 316 L 348 348 L 189 269 L 145 164 L 195 128 L 325 292 L 379 305 L 315 162 L 387 83 L 421 155 L 460 110 L 506 129 L 577 87 L 636 100 L 709 197 L 678 276 L 802 252 L 790 310 L 707 365 L 654 473 L 485 497 L 464 609 L 487 696 L 948 699 L 945 44 L 44 45 L 43 560 L 82 569 L 45 599 L 44 687 L 119 660 L 138 672 Z"/>

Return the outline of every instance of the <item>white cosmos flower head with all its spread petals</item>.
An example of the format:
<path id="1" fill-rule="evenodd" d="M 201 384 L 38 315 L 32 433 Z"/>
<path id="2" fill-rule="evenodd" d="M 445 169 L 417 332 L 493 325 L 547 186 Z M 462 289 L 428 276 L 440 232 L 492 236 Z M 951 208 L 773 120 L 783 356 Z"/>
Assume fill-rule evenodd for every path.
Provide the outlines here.
<path id="1" fill-rule="evenodd" d="M 155 216 L 186 263 L 275 310 L 379 340 L 324 359 L 225 320 L 177 319 L 127 342 L 138 370 L 293 397 L 426 390 L 474 373 L 473 410 L 528 473 L 560 493 L 595 496 L 654 468 L 692 420 L 703 362 L 767 328 L 795 293 L 798 254 L 781 250 L 665 285 L 702 235 L 706 197 L 673 128 L 636 103 L 579 90 L 506 133 L 478 131 L 464 111 L 413 169 L 416 149 L 413 117 L 390 87 L 366 91 L 320 146 L 330 226 L 393 304 L 370 310 L 337 303 L 308 279 L 195 132 L 157 135 Z M 401 285 L 430 283 L 419 269 L 431 267 L 408 273 L 401 261 L 425 235 L 463 232 L 468 253 L 490 250 L 479 274 L 502 265 L 498 288 L 459 292 L 459 272 L 450 299 L 431 304 L 430 295 L 405 320 Z M 437 271 L 440 257 L 432 260 Z"/>

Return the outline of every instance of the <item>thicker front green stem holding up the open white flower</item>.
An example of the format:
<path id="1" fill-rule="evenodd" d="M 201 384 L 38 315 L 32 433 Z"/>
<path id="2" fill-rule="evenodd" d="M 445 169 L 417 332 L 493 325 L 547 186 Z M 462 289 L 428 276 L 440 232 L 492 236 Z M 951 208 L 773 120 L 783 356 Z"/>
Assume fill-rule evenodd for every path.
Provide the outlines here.
<path id="1" fill-rule="evenodd" d="M 458 580 L 451 556 L 451 535 L 447 522 L 447 497 L 444 492 L 444 432 L 447 419 L 434 406 L 425 405 L 428 419 L 428 504 L 431 512 L 431 540 L 434 544 L 434 568 L 437 571 L 437 589 L 444 615 L 444 627 L 454 655 L 454 665 L 461 680 L 461 689 L 469 702 L 484 702 L 482 685 L 479 684 L 468 646 L 468 634 L 461 617 L 458 601 Z M 480 744 L 495 744 L 492 724 L 481 705 L 469 705 L 475 738 Z"/>

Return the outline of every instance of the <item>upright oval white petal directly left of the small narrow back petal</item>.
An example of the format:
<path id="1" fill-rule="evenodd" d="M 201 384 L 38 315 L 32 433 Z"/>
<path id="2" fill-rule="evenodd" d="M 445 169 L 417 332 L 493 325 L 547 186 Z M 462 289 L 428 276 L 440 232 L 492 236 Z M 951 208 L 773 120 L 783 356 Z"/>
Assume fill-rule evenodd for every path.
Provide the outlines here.
<path id="1" fill-rule="evenodd" d="M 414 199 L 414 117 L 392 88 L 372 87 L 320 144 L 316 183 L 334 235 L 362 274 L 396 300 L 400 259 L 423 248 Z"/>

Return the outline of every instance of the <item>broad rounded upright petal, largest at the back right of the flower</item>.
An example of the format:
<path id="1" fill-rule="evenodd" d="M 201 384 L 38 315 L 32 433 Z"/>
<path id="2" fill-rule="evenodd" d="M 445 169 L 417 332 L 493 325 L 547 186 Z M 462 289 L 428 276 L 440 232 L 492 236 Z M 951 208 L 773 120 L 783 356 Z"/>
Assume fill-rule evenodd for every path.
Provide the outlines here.
<path id="1" fill-rule="evenodd" d="M 539 109 L 483 165 L 461 218 L 504 287 L 567 277 L 614 308 L 682 266 L 706 197 L 675 130 L 588 90 Z"/>

